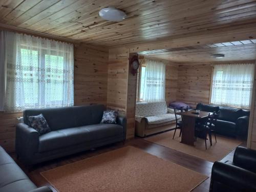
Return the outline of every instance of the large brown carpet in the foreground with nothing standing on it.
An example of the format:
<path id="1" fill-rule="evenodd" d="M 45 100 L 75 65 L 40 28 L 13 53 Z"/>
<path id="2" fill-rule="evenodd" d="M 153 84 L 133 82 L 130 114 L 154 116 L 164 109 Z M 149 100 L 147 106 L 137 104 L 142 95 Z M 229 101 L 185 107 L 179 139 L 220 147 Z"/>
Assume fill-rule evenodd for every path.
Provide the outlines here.
<path id="1" fill-rule="evenodd" d="M 42 172 L 59 192 L 191 191 L 207 176 L 127 146 Z"/>

